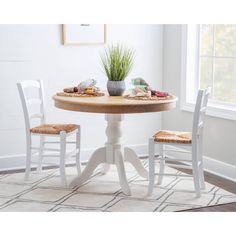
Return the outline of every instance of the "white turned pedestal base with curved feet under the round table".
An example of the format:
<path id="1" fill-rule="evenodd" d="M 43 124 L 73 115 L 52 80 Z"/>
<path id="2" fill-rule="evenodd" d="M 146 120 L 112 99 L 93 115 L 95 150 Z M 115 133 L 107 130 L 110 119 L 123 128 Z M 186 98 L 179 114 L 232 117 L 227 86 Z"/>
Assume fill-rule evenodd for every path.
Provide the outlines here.
<path id="1" fill-rule="evenodd" d="M 125 173 L 124 161 L 130 162 L 135 167 L 138 174 L 146 179 L 148 178 L 148 171 L 143 167 L 141 161 L 133 149 L 125 147 L 123 154 L 122 145 L 120 143 L 120 138 L 122 136 L 121 122 L 123 120 L 123 115 L 106 114 L 105 119 L 107 121 L 107 142 L 105 143 L 105 147 L 98 148 L 94 151 L 82 174 L 76 177 L 71 182 L 70 186 L 81 186 L 90 178 L 96 167 L 101 163 L 103 163 L 101 172 L 104 174 L 109 171 L 110 165 L 114 164 L 117 167 L 122 191 L 127 195 L 131 195 Z"/>

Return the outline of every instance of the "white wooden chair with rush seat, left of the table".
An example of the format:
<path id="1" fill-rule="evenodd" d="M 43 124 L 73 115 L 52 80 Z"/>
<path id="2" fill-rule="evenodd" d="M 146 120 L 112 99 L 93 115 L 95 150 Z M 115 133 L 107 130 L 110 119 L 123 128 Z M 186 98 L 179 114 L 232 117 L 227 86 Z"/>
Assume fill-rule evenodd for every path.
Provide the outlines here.
<path id="1" fill-rule="evenodd" d="M 30 176 L 31 164 L 38 164 L 37 170 L 41 172 L 44 157 L 58 157 L 60 176 L 63 186 L 67 186 L 66 180 L 66 158 L 75 156 L 78 174 L 80 169 L 80 126 L 76 124 L 48 124 L 46 123 L 44 109 L 44 89 L 42 80 L 26 80 L 17 83 L 18 91 L 24 112 L 26 129 L 26 170 L 25 180 Z M 29 97 L 27 92 L 34 95 Z M 32 122 L 38 120 L 38 126 L 32 127 Z M 69 142 L 68 137 L 75 135 L 75 141 Z M 40 139 L 39 147 L 32 146 L 32 137 L 38 136 Z M 56 141 L 47 141 L 46 138 Z M 59 140 L 58 140 L 59 139 Z M 67 144 L 75 146 L 73 151 L 67 152 Z M 45 147 L 48 145 L 59 145 L 59 148 Z M 47 152 L 47 153 L 46 153 Z M 38 161 L 33 161 L 32 157 L 38 156 Z"/>

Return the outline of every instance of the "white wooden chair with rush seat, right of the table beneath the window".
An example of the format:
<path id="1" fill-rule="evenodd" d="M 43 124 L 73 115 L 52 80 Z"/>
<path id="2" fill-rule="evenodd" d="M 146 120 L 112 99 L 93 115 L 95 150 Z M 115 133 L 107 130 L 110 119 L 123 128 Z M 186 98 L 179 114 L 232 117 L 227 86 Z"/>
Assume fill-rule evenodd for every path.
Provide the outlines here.
<path id="1" fill-rule="evenodd" d="M 153 192 L 155 176 L 158 176 L 158 184 L 162 184 L 163 176 L 176 176 L 165 173 L 165 165 L 174 168 L 191 169 L 192 175 L 178 174 L 178 176 L 193 177 L 196 196 L 201 196 L 201 189 L 205 189 L 203 170 L 203 127 L 206 107 L 211 88 L 199 90 L 193 117 L 192 132 L 179 132 L 161 130 L 149 139 L 149 186 L 148 196 Z M 155 159 L 155 146 L 159 147 L 159 155 Z M 179 145 L 189 147 L 191 151 L 181 151 L 165 148 L 166 145 Z M 190 159 L 170 158 L 165 155 L 166 151 L 176 151 L 191 154 Z M 159 161 L 159 172 L 155 173 L 155 160 Z"/>

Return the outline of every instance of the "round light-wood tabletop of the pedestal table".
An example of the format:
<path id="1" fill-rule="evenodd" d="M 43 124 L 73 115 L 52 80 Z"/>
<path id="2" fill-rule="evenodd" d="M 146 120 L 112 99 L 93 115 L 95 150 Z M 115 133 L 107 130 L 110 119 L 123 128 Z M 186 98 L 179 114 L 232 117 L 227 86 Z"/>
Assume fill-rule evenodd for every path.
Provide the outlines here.
<path id="1" fill-rule="evenodd" d="M 167 100 L 133 100 L 122 96 L 63 97 L 54 95 L 55 106 L 80 112 L 126 114 L 167 111 L 175 108 L 177 97 Z"/>

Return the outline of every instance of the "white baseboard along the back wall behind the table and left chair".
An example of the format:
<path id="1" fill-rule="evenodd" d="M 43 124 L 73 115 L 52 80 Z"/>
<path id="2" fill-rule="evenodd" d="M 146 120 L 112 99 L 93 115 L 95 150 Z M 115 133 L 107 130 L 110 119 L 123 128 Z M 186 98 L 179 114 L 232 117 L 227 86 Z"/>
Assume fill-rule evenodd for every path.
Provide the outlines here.
<path id="1" fill-rule="evenodd" d="M 140 157 L 147 156 L 147 145 L 139 144 L 139 145 L 130 145 L 129 147 L 133 148 Z M 89 157 L 92 155 L 94 151 L 95 151 L 95 148 L 84 149 L 84 150 L 82 149 L 81 162 L 84 162 L 84 163 L 87 162 Z M 25 154 L 0 156 L 0 171 L 24 169 L 25 158 L 26 158 Z M 54 163 L 55 158 L 52 158 L 52 159 L 47 158 L 47 161 Z"/>

